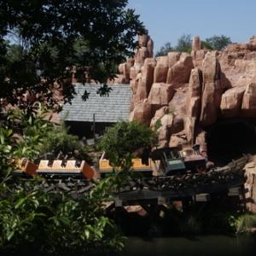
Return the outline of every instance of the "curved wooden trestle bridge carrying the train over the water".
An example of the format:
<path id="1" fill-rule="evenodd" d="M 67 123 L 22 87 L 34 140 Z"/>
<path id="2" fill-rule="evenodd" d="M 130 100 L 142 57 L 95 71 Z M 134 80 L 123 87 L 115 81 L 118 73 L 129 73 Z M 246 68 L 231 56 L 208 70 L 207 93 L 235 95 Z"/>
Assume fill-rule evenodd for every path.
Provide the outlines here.
<path id="1" fill-rule="evenodd" d="M 227 191 L 228 195 L 240 195 L 241 186 L 245 183 L 244 166 L 253 159 L 251 154 L 233 160 L 227 166 L 212 169 L 205 173 L 186 173 L 180 176 L 143 177 L 131 179 L 124 188 L 113 193 L 109 201 L 114 207 L 126 205 L 164 205 L 170 201 L 183 201 L 192 198 L 194 201 L 210 201 L 211 194 Z M 44 177 L 40 185 L 48 193 L 66 191 L 74 198 L 83 198 L 94 186 L 94 180 L 79 177 L 60 178 L 57 175 Z"/>

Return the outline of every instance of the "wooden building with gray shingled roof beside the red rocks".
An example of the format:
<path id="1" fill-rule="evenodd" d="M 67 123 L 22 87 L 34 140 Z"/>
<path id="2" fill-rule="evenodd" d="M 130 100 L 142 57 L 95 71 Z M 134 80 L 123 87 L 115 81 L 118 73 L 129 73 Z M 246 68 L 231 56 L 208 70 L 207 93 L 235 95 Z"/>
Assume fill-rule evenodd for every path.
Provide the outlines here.
<path id="1" fill-rule="evenodd" d="M 109 96 L 97 93 L 102 84 L 74 84 L 76 95 L 72 104 L 66 103 L 60 114 L 70 132 L 86 139 L 100 137 L 108 127 L 120 120 L 128 120 L 132 90 L 130 84 L 109 84 Z M 84 102 L 84 90 L 90 93 Z"/>

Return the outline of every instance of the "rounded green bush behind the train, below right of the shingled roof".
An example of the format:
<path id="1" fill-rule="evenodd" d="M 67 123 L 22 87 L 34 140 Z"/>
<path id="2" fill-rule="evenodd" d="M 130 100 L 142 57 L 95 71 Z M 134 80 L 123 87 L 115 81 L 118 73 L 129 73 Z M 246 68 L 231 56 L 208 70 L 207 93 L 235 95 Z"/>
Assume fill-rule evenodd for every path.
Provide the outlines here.
<path id="1" fill-rule="evenodd" d="M 145 151 L 157 143 L 157 134 L 148 126 L 138 123 L 119 121 L 113 125 L 101 139 L 100 148 L 106 151 L 110 158 L 117 155 L 120 158 L 125 154 L 136 154 L 141 157 Z"/>

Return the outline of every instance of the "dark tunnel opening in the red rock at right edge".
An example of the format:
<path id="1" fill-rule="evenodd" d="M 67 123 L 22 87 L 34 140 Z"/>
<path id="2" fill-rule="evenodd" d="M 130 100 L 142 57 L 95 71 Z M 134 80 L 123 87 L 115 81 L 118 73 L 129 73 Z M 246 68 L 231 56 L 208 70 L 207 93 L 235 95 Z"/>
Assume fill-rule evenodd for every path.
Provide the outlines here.
<path id="1" fill-rule="evenodd" d="M 218 120 L 207 127 L 209 159 L 224 166 L 243 154 L 256 154 L 255 119 Z"/>

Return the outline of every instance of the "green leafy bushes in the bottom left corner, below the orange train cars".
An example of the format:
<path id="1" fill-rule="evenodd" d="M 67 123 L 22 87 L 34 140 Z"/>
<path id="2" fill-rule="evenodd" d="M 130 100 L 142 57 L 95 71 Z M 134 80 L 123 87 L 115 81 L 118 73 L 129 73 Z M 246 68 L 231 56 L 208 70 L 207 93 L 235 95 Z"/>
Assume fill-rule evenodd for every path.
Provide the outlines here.
<path id="1" fill-rule="evenodd" d="M 125 237 L 104 217 L 103 181 L 86 200 L 46 194 L 40 183 L 0 184 L 1 254 L 113 255 L 124 247 Z"/>

